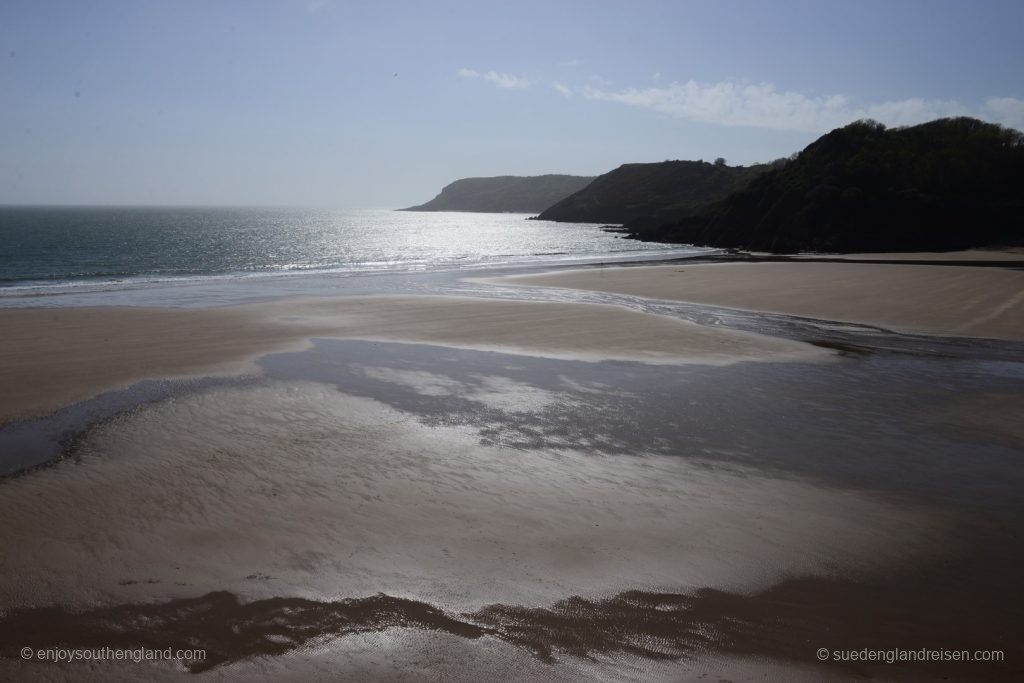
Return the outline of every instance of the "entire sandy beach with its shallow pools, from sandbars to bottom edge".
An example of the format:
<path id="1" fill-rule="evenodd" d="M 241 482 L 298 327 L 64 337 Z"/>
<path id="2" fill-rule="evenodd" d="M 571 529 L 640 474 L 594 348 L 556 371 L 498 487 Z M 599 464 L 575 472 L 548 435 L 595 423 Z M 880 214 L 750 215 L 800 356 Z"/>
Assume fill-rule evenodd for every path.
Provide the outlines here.
<path id="1" fill-rule="evenodd" d="M 752 263 L 494 282 L 1015 340 L 1021 279 Z M 459 296 L 0 325 L 0 439 L 24 429 L 60 456 L 0 480 L 8 676 L 72 671 L 16 660 L 23 641 L 190 643 L 204 677 L 295 680 L 748 680 L 765 661 L 927 680 L 950 670 L 814 651 L 1014 646 L 1007 407 L 1024 392 L 984 364 Z M 133 393 L 142 380 L 164 384 Z M 979 671 L 1019 669 L 952 674 Z"/>

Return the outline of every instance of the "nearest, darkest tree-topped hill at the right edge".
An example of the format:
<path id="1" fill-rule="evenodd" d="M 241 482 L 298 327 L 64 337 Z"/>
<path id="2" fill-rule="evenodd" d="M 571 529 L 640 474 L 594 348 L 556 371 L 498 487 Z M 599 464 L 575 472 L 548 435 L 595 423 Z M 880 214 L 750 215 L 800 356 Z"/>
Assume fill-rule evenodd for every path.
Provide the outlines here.
<path id="1" fill-rule="evenodd" d="M 770 252 L 1024 245 L 1024 135 L 975 119 L 862 121 L 641 240 Z"/>

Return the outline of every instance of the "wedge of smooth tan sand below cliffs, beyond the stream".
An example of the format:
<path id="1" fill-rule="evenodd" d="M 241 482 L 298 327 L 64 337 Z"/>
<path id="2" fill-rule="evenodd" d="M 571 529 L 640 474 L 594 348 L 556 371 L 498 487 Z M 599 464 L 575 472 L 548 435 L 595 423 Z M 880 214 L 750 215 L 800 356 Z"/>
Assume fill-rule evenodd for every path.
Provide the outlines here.
<path id="1" fill-rule="evenodd" d="M 586 268 L 488 282 L 689 301 L 904 332 L 1024 340 L 1024 271 L 1007 268 L 681 263 Z"/>

